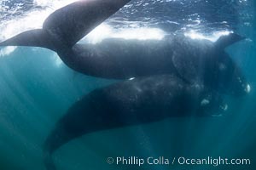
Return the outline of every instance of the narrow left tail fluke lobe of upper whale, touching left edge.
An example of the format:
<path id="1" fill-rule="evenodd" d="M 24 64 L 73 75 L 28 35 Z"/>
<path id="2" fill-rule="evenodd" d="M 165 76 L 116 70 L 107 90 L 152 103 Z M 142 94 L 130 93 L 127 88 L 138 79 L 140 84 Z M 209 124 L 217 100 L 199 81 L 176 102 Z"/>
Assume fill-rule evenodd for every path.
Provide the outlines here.
<path id="1" fill-rule="evenodd" d="M 11 37 L 0 46 L 32 46 L 55 50 L 54 42 L 50 41 L 47 33 L 42 29 L 24 31 L 15 37 Z"/>

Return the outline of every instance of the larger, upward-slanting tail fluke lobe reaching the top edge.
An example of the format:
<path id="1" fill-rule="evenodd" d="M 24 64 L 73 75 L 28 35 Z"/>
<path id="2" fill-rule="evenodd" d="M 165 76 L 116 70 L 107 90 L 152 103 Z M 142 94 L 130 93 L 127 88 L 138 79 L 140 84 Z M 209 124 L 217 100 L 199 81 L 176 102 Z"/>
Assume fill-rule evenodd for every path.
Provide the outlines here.
<path id="1" fill-rule="evenodd" d="M 44 21 L 49 31 L 67 47 L 73 47 L 82 37 L 100 25 L 131 0 L 86 0 L 71 3 L 56 10 Z"/>

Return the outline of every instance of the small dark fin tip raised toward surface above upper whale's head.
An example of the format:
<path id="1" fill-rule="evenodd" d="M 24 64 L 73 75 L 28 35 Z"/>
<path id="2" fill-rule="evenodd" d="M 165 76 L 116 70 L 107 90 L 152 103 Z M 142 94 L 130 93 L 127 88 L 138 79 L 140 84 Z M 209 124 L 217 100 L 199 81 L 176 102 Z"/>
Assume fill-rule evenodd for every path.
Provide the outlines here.
<path id="1" fill-rule="evenodd" d="M 224 49 L 232 45 L 233 43 L 244 40 L 246 37 L 241 37 L 236 33 L 230 33 L 229 35 L 219 37 L 218 40 L 214 43 L 215 47 L 218 49 Z"/>

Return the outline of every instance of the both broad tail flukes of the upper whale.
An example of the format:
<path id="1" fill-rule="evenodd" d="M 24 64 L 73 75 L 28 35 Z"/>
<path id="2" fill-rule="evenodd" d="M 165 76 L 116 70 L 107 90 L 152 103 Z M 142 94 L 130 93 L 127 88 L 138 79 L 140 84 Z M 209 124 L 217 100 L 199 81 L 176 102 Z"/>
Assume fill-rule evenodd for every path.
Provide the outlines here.
<path id="1" fill-rule="evenodd" d="M 131 0 L 82 0 L 50 14 L 43 29 L 25 31 L 0 46 L 33 46 L 60 52 L 71 48 Z"/>

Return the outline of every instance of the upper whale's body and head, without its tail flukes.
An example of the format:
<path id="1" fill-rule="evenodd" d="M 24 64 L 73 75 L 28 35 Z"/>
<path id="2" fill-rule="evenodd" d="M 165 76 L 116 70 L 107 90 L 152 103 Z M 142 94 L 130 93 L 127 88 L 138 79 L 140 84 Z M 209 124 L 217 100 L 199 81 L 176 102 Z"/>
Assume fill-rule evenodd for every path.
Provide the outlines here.
<path id="1" fill-rule="evenodd" d="M 242 37 L 191 39 L 169 35 L 162 40 L 105 39 L 97 44 L 76 44 L 61 59 L 75 71 L 104 78 L 176 74 L 190 83 L 202 83 L 231 95 L 247 94 L 247 80 L 224 48 Z M 69 57 L 76 56 L 76 57 Z"/>

